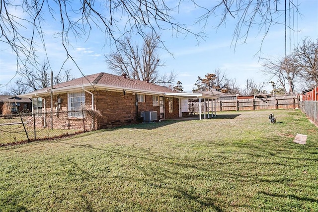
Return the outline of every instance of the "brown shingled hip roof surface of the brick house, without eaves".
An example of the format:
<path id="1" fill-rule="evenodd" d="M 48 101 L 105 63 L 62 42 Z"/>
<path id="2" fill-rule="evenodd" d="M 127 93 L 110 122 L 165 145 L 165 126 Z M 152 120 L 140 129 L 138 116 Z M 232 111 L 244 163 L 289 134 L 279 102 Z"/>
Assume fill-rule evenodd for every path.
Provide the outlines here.
<path id="1" fill-rule="evenodd" d="M 77 79 L 73 79 L 68 82 L 63 82 L 54 85 L 54 89 L 73 87 L 82 84 L 92 84 L 93 86 L 102 85 L 114 88 L 125 88 L 125 89 L 135 89 L 144 90 L 151 92 L 172 92 L 169 88 L 160 86 L 153 83 L 148 83 L 146 81 L 141 81 L 138 79 L 124 78 L 122 76 L 113 75 L 109 73 L 95 73 L 87 76 L 83 76 Z"/>

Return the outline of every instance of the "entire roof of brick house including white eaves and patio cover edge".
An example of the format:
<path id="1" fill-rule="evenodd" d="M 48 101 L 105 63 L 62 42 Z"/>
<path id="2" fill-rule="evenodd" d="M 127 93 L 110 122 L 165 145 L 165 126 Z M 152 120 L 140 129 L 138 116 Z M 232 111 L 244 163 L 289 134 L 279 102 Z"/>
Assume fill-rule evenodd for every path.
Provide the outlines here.
<path id="1" fill-rule="evenodd" d="M 211 98 L 214 95 L 208 94 L 194 94 L 194 93 L 177 93 L 167 87 L 157 84 L 149 83 L 138 79 L 124 78 L 123 76 L 113 75 L 110 73 L 95 73 L 83 76 L 77 79 L 63 82 L 53 86 L 53 93 L 70 92 L 80 89 L 101 88 L 109 90 L 123 90 L 131 92 L 143 92 L 149 94 L 179 96 L 184 98 L 195 98 L 206 95 L 206 98 Z M 33 91 L 28 94 L 22 94 L 21 97 L 31 97 L 34 95 L 48 95 L 50 88 Z"/>

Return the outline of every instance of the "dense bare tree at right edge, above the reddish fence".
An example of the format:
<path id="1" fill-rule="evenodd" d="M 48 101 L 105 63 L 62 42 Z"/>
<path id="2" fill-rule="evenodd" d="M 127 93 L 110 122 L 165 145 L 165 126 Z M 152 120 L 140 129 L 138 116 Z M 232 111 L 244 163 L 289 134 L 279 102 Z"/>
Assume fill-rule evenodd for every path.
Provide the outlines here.
<path id="1" fill-rule="evenodd" d="M 318 84 L 318 39 L 316 43 L 309 38 L 295 49 L 295 62 L 306 81 Z"/>

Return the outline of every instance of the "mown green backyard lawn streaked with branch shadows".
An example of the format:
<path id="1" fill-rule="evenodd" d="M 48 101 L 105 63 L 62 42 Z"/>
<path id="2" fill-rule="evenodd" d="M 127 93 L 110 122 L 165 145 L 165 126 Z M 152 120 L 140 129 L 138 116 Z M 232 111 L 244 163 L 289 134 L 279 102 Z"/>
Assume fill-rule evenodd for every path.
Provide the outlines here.
<path id="1" fill-rule="evenodd" d="M 217 115 L 1 147 L 0 211 L 318 211 L 318 128 L 304 114 Z"/>

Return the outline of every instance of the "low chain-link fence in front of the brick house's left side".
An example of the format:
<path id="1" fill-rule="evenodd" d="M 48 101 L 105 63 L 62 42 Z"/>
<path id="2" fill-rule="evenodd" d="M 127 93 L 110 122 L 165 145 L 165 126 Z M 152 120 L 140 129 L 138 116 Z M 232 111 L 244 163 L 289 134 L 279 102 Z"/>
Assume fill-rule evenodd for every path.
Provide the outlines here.
<path id="1" fill-rule="evenodd" d="M 80 112 L 81 118 L 74 119 L 73 123 L 67 118 L 70 111 L 2 115 L 0 116 L 0 146 L 55 139 L 91 130 L 91 111 Z"/>

